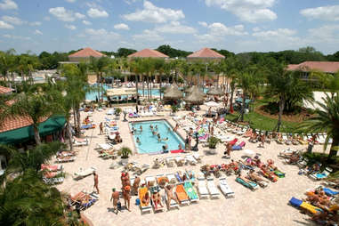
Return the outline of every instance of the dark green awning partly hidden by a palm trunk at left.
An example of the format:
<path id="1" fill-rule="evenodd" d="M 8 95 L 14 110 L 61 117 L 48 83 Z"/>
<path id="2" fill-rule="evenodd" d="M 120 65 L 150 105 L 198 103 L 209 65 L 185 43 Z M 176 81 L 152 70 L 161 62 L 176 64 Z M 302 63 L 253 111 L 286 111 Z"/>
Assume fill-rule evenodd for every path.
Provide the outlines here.
<path id="1" fill-rule="evenodd" d="M 60 131 L 65 124 L 65 117 L 50 117 L 39 125 L 40 136 Z M 2 144 L 16 144 L 33 139 L 34 131 L 32 125 L 0 133 L 0 143 Z"/>

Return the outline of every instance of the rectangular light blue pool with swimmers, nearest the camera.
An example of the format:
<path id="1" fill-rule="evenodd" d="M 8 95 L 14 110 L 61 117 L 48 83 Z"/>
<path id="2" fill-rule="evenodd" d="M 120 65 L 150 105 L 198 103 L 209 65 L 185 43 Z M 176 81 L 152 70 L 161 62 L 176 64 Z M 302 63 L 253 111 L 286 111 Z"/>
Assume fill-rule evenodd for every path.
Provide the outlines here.
<path id="1" fill-rule="evenodd" d="M 160 133 L 161 139 L 168 137 L 168 141 L 157 141 L 157 135 L 152 134 L 149 125 L 153 125 L 154 128 L 157 125 L 157 130 L 155 131 Z M 165 120 L 133 122 L 130 123 L 129 126 L 131 131 L 132 127 L 137 130 L 137 132 L 133 134 L 133 141 L 140 154 L 159 152 L 165 144 L 168 145 L 168 150 L 179 149 L 179 144 L 182 144 L 182 148 L 185 147 L 182 137 L 175 133 L 171 125 Z M 142 132 L 140 132 L 140 126 L 142 126 Z M 171 130 L 168 128 L 171 128 Z M 136 142 L 137 138 L 140 139 L 140 144 Z"/>

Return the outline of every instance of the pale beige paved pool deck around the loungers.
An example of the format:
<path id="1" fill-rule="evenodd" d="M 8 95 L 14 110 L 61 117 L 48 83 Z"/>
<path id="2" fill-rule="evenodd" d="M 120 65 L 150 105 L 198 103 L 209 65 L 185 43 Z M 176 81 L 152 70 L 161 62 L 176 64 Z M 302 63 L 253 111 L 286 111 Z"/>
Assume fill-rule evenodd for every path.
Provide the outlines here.
<path id="1" fill-rule="evenodd" d="M 204 108 L 203 108 L 204 109 Z M 93 120 L 99 125 L 101 121 L 104 121 L 106 111 L 93 113 Z M 200 114 L 203 111 L 200 111 Z M 82 118 L 88 113 L 81 112 Z M 166 118 L 168 122 L 174 126 L 174 120 L 169 117 L 169 113 L 165 113 L 165 117 L 147 117 L 150 119 Z M 188 111 L 179 111 L 177 116 L 188 115 Z M 134 149 L 133 140 L 129 131 L 129 122 L 123 122 L 123 117 L 118 121 L 119 132 L 123 139 L 123 143 L 115 145 L 116 149 L 123 146 Z M 132 120 L 132 119 L 129 119 Z M 133 121 L 142 121 L 145 118 L 136 118 Z M 178 133 L 185 137 L 185 132 L 182 128 L 178 129 Z M 77 159 L 73 163 L 62 164 L 65 172 L 68 174 L 65 182 L 57 185 L 59 190 L 70 192 L 75 194 L 81 190 L 93 191 L 93 176 L 90 175 L 80 181 L 73 180 L 73 174 L 78 171 L 79 167 L 88 168 L 95 166 L 97 168 L 97 174 L 99 175 L 99 189 L 100 200 L 93 206 L 84 211 L 95 226 L 108 226 L 108 225 L 315 225 L 310 222 L 309 216 L 301 214 L 299 210 L 292 206 L 287 205 L 288 200 L 292 197 L 305 198 L 304 192 L 310 188 L 315 188 L 320 182 L 311 181 L 305 175 L 298 175 L 299 168 L 295 165 L 285 165 L 281 159 L 277 157 L 278 152 L 287 149 L 306 149 L 307 146 L 287 146 L 271 142 L 265 145 L 265 148 L 258 148 L 257 144 L 246 141 L 246 149 L 253 149 L 256 153 L 260 153 L 263 160 L 271 158 L 276 165 L 282 168 L 286 173 L 286 178 L 278 179 L 278 182 L 270 182 L 269 186 L 265 189 L 251 191 L 244 186 L 235 182 L 235 176 L 231 175 L 227 177 L 227 182 L 230 188 L 235 192 L 235 198 L 224 198 L 221 196 L 219 199 L 203 199 L 198 204 L 191 204 L 190 206 L 182 206 L 179 210 L 171 210 L 163 213 L 154 214 L 153 211 L 150 214 L 141 214 L 138 206 L 135 206 L 135 199 L 131 199 L 131 210 L 128 212 L 124 210 L 123 213 L 114 214 L 111 211 L 112 203 L 109 201 L 111 195 L 111 189 L 117 188 L 120 190 L 120 174 L 123 170 L 122 167 L 117 169 L 109 169 L 109 165 L 113 162 L 118 162 L 120 159 L 102 159 L 98 157 L 98 152 L 94 150 L 96 144 L 104 143 L 105 139 L 103 135 L 99 135 L 99 126 L 93 130 L 87 130 L 85 135 L 90 139 L 89 146 L 78 147 Z M 240 141 L 245 139 L 240 138 Z M 246 139 L 247 140 L 247 139 Z M 198 153 L 203 156 L 202 164 L 198 165 L 184 165 L 167 167 L 164 166 L 159 169 L 149 169 L 146 173 L 141 175 L 143 179 L 147 175 L 174 173 L 176 171 L 184 171 L 184 169 L 193 170 L 198 174 L 201 165 L 205 164 L 222 164 L 230 162 L 222 158 L 224 146 L 219 145 L 217 147 L 216 155 L 206 155 L 206 148 L 203 148 L 200 144 Z M 316 145 L 314 151 L 322 152 L 322 146 Z M 238 160 L 243 155 L 243 150 L 233 151 L 231 157 Z M 153 160 L 157 157 L 169 157 L 178 154 L 163 154 L 157 156 L 149 156 L 146 154 L 136 154 L 129 158 L 129 161 L 135 161 L 140 164 L 153 165 Z M 181 154 L 180 154 L 181 155 Z M 224 175 L 222 173 L 222 175 Z M 218 180 L 214 178 L 215 185 Z M 162 190 L 161 192 L 164 192 Z M 120 198 L 122 205 L 124 201 Z"/>

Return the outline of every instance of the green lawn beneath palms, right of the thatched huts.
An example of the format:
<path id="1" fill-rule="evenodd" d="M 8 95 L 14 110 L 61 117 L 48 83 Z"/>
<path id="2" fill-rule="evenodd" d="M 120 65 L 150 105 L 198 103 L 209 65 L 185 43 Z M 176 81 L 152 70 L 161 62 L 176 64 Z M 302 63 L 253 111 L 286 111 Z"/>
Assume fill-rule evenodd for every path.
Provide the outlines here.
<path id="1" fill-rule="evenodd" d="M 265 101 L 256 101 L 254 104 L 254 108 L 257 106 L 263 105 Z M 234 121 L 239 117 L 238 112 L 235 112 L 234 114 L 230 114 L 226 116 L 226 119 L 230 121 Z M 259 130 L 267 130 L 267 131 L 273 131 L 275 126 L 277 125 L 276 119 L 272 119 L 270 117 L 264 117 L 261 114 L 258 114 L 254 111 L 245 114 L 244 121 L 249 122 L 250 126 L 259 129 Z M 295 133 L 296 127 L 299 125 L 299 123 L 293 123 L 293 122 L 287 122 L 282 121 L 280 132 L 285 133 Z"/>

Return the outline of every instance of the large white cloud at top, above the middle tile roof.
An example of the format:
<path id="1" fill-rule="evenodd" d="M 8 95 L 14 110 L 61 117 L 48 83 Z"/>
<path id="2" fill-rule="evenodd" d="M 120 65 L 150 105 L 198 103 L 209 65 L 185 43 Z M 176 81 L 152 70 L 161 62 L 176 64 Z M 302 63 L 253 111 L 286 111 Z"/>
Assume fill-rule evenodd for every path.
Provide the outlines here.
<path id="1" fill-rule="evenodd" d="M 145 0 L 143 2 L 143 10 L 125 14 L 123 17 L 125 20 L 165 23 L 167 21 L 181 20 L 185 18 L 185 15 L 182 10 L 160 8 Z"/>

